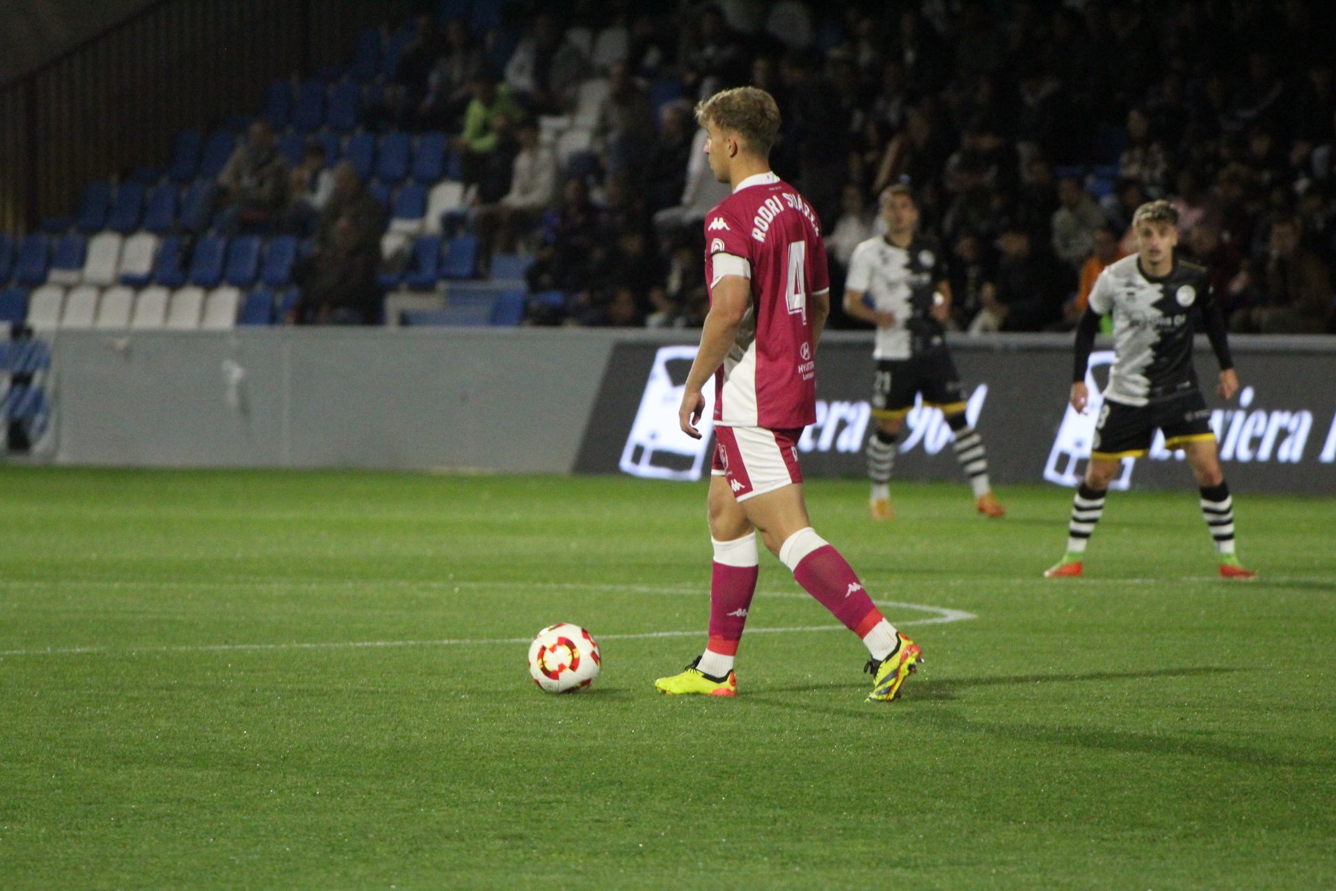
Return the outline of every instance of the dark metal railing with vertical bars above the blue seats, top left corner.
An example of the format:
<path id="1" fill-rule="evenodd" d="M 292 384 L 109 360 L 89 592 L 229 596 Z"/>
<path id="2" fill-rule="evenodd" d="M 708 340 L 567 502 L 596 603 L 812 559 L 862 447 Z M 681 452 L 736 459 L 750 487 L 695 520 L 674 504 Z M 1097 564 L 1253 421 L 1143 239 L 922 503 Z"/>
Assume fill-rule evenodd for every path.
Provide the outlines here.
<path id="1" fill-rule="evenodd" d="M 407 0 L 162 0 L 0 87 L 0 231 L 75 211 L 87 183 L 162 167 L 182 130 L 259 112 L 275 77 L 347 61 Z"/>

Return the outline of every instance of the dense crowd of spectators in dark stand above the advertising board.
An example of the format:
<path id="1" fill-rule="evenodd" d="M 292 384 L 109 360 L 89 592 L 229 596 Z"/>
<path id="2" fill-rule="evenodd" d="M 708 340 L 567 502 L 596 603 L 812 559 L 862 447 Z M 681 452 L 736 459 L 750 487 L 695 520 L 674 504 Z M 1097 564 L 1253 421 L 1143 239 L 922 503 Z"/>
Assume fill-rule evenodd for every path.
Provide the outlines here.
<path id="1" fill-rule="evenodd" d="M 1311 4 L 1007 7 L 541 4 L 500 83 L 497 35 L 422 16 L 377 115 L 461 134 L 484 266 L 532 232 L 532 287 L 568 294 L 540 323 L 700 322 L 699 223 L 724 187 L 692 104 L 749 83 L 780 106 L 775 170 L 818 210 L 836 291 L 876 195 L 907 182 L 951 254 L 955 326 L 1069 327 L 1132 211 L 1169 198 L 1234 330 L 1332 330 L 1336 94 Z M 608 23 L 627 51 L 600 71 L 568 29 Z M 592 155 L 556 171 L 536 118 L 597 76 Z"/>

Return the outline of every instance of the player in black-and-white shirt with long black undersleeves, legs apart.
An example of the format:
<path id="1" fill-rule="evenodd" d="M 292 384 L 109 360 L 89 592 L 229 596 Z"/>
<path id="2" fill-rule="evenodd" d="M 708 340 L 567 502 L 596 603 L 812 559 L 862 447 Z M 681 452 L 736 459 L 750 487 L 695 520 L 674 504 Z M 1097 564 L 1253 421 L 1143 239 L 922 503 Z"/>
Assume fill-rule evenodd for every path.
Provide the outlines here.
<path id="1" fill-rule="evenodd" d="M 1220 397 L 1232 399 L 1238 375 L 1229 355 L 1225 319 L 1210 294 L 1206 270 L 1174 255 L 1178 214 L 1169 202 L 1142 204 L 1133 216 L 1137 252 L 1112 263 L 1096 279 L 1090 306 L 1077 326 L 1075 365 L 1071 370 L 1071 407 L 1085 411 L 1086 365 L 1100 317 L 1113 314 L 1114 362 L 1096 422 L 1090 464 L 1077 489 L 1067 526 L 1067 552 L 1045 572 L 1049 578 L 1082 574 L 1086 542 L 1104 513 L 1109 482 L 1122 458 L 1150 449 L 1156 429 L 1165 446 L 1182 449 L 1201 488 L 1201 516 L 1216 542 L 1220 574 L 1256 578 L 1234 553 L 1234 516 L 1229 486 L 1220 470 L 1197 373 L 1192 365 L 1192 314 L 1201 313 L 1206 337 L 1220 362 Z"/>

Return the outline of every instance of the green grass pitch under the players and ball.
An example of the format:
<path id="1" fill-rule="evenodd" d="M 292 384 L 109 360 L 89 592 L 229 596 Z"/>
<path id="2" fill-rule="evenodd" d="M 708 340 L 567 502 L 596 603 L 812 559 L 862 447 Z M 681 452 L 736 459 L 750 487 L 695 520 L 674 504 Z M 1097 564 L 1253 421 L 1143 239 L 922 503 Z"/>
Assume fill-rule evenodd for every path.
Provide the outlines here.
<path id="1" fill-rule="evenodd" d="M 1045 581 L 1065 490 L 990 522 L 898 485 L 872 525 L 812 484 L 874 598 L 978 614 L 906 628 L 927 664 L 871 705 L 844 631 L 747 636 L 736 700 L 653 693 L 704 644 L 704 492 L 0 468 L 0 884 L 1336 884 L 1331 501 L 1240 496 L 1244 585 L 1194 490 L 1114 493 Z M 831 624 L 768 556 L 759 592 L 755 628 Z M 558 620 L 604 639 L 587 693 L 525 643 L 319 645 Z"/>

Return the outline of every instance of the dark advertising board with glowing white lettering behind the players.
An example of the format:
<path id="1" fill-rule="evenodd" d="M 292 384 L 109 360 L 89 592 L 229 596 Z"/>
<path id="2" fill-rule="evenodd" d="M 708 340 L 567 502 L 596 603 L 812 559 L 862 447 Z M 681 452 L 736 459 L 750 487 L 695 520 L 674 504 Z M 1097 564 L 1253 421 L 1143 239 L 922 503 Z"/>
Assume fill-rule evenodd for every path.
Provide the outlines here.
<path id="1" fill-rule="evenodd" d="M 1018 346 L 1019 343 L 1019 346 Z M 1210 427 L 1237 490 L 1336 492 L 1336 377 L 1332 353 L 1296 354 L 1269 349 L 1264 339 L 1234 342 L 1242 390 L 1232 403 L 1214 395 L 1217 367 L 1201 346 L 1196 357 Z M 953 338 L 951 349 L 967 394 L 967 418 L 989 449 L 989 470 L 1001 485 L 1050 482 L 1074 486 L 1085 474 L 1110 351 L 1092 355 L 1086 373 L 1090 405 L 1071 409 L 1071 351 L 1063 342 L 1009 342 L 1006 338 Z M 667 480 L 708 476 L 708 417 L 695 441 L 677 429 L 681 387 L 695 345 L 623 342 L 613 351 L 577 472 L 631 473 Z M 799 439 L 808 478 L 866 474 L 871 430 L 871 337 L 831 333 L 816 362 L 816 421 Z M 713 385 L 705 387 L 713 397 Z M 896 480 L 963 481 L 941 411 L 922 405 L 908 413 L 900 434 Z M 1182 452 L 1164 448 L 1128 458 L 1117 488 L 1192 486 Z"/>

